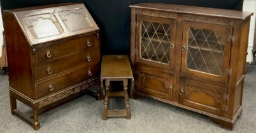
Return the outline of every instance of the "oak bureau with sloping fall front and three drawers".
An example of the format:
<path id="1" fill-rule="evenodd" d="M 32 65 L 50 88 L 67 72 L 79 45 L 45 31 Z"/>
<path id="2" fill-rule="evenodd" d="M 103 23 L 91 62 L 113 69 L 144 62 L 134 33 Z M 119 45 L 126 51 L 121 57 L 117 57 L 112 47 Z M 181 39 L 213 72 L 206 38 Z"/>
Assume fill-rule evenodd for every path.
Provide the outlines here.
<path id="1" fill-rule="evenodd" d="M 63 3 L 3 12 L 11 114 L 40 125 L 39 113 L 99 89 L 99 27 L 83 4 Z M 33 110 L 17 110 L 16 100 Z"/>

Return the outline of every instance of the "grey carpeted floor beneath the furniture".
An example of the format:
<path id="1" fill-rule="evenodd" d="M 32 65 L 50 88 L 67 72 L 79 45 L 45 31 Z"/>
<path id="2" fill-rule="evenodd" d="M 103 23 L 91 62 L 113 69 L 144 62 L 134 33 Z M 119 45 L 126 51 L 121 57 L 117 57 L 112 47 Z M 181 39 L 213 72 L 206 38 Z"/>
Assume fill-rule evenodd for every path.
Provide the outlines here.
<path id="1" fill-rule="evenodd" d="M 208 117 L 153 99 L 131 99 L 131 120 L 102 120 L 103 101 L 82 96 L 39 116 L 41 129 L 34 131 L 10 113 L 8 75 L 0 72 L 0 132 L 256 132 L 256 66 L 248 66 L 243 93 L 243 115 L 232 131 Z M 119 100 L 120 99 L 115 99 Z M 111 106 L 120 105 L 113 102 Z M 18 102 L 24 112 L 31 110 Z"/>

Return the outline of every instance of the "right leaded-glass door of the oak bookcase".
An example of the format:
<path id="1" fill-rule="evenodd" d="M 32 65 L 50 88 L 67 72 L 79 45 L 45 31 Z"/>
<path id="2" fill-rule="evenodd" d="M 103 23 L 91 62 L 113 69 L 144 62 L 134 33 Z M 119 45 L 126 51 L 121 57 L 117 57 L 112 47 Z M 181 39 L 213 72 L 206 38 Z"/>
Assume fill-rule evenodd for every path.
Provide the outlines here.
<path id="1" fill-rule="evenodd" d="M 181 72 L 227 82 L 232 27 L 183 22 Z"/>

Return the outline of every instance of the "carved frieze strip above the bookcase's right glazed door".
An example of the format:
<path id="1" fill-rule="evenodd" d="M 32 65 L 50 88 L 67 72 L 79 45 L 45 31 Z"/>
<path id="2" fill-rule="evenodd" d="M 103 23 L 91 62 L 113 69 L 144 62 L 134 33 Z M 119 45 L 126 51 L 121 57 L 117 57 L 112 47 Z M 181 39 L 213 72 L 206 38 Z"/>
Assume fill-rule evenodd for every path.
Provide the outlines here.
<path id="1" fill-rule="evenodd" d="M 220 18 L 211 18 L 208 16 L 194 16 L 194 15 L 183 15 L 183 19 L 192 22 L 202 22 L 202 23 L 210 23 L 217 25 L 234 25 L 233 20 L 224 20 Z"/>

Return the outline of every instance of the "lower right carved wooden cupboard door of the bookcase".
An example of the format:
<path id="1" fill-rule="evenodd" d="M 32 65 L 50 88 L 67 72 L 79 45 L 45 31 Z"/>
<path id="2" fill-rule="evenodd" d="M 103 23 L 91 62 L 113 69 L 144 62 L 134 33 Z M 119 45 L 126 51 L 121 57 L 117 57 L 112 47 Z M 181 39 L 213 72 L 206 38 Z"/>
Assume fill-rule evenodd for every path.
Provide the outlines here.
<path id="1" fill-rule="evenodd" d="M 182 105 L 224 116 L 226 88 L 196 80 L 181 79 L 180 103 Z"/>

